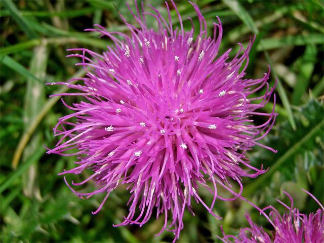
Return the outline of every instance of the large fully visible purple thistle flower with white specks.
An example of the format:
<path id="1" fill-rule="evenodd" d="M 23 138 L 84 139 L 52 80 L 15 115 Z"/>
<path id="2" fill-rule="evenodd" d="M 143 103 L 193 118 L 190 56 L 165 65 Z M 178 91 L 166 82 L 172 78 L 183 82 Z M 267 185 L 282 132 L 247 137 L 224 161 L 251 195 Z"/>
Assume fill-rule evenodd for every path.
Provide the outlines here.
<path id="1" fill-rule="evenodd" d="M 142 226 L 156 208 L 157 217 L 165 217 L 160 232 L 168 228 L 175 239 L 183 228 L 185 208 L 191 211 L 192 198 L 218 217 L 212 212 L 216 198 L 236 198 L 242 191 L 242 177 L 254 178 L 266 171 L 262 166 L 252 167 L 245 152 L 254 145 L 274 151 L 258 140 L 268 134 L 276 114 L 273 110 L 256 111 L 268 102 L 274 90 L 267 83 L 269 72 L 260 79 L 244 79 L 253 40 L 246 49 L 238 44 L 240 50 L 232 60 L 228 60 L 231 50 L 218 55 L 222 38 L 219 18 L 213 36 L 207 36 L 204 17 L 196 4 L 190 4 L 200 23 L 195 41 L 194 27 L 184 31 L 174 2 L 180 29 L 172 26 L 168 3 L 169 21 L 152 6 L 153 13 L 144 12 L 143 4 L 142 13 L 139 9 L 134 13 L 128 6 L 140 26 L 136 28 L 121 16 L 130 36 L 107 32 L 99 25 L 98 29 L 87 29 L 108 36 L 114 45 L 103 54 L 85 48 L 69 50 L 80 51 L 82 54 L 69 56 L 81 58 L 77 65 L 90 68 L 87 77 L 71 80 L 82 80 L 84 85 L 55 84 L 79 91 L 63 95 L 83 96 L 87 101 L 71 107 L 62 100 L 75 112 L 59 119 L 54 133 L 62 137 L 48 151 L 78 156 L 77 166 L 61 175 L 93 173 L 85 181 L 72 181 L 72 185 L 92 180 L 97 185 L 95 191 L 76 192 L 66 182 L 80 197 L 106 193 L 93 214 L 100 211 L 113 189 L 127 184 L 131 205 L 119 225 Z M 157 20 L 157 31 L 147 28 L 146 15 Z M 263 96 L 248 98 L 262 88 L 266 88 Z M 253 115 L 265 116 L 265 123 L 255 126 Z M 78 151 L 64 153 L 73 148 Z M 240 192 L 229 199 L 219 196 L 217 184 L 231 186 L 233 180 Z M 198 195 L 199 184 L 214 194 L 211 206 Z M 167 225 L 169 211 L 172 222 Z"/>

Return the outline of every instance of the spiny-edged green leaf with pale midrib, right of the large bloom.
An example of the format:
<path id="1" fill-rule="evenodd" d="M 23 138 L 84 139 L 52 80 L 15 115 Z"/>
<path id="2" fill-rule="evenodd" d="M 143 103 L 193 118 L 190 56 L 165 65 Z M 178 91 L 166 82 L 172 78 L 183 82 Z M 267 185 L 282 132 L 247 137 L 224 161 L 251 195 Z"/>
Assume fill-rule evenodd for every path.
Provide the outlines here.
<path id="1" fill-rule="evenodd" d="M 282 123 L 276 136 L 267 137 L 265 145 L 277 149 L 277 153 L 271 151 L 257 152 L 252 161 L 262 161 L 262 164 L 269 171 L 259 176 L 253 183 L 247 185 L 244 190 L 244 195 L 250 195 L 257 188 L 262 188 L 264 182 L 272 176 L 277 170 L 284 171 L 286 168 L 291 168 L 293 165 L 292 156 L 300 153 L 303 149 L 316 149 L 315 137 L 324 134 L 324 107 L 316 100 L 310 100 L 296 115 L 296 131 L 293 131 L 287 122 Z M 307 120 L 303 123 L 302 117 Z M 321 158 L 323 159 L 323 158 Z M 293 175 L 291 169 L 288 170 L 289 175 Z M 265 184 L 267 185 L 267 184 Z"/>

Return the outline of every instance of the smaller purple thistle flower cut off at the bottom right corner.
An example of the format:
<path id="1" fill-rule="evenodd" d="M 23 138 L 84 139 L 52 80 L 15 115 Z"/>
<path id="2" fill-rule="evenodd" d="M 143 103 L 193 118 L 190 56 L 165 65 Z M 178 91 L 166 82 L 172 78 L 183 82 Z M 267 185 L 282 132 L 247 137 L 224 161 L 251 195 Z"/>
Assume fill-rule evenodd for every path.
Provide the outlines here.
<path id="1" fill-rule="evenodd" d="M 308 191 L 308 193 L 319 205 L 316 213 L 301 214 L 297 208 L 294 208 L 294 201 L 292 197 L 284 192 L 291 200 L 291 207 L 288 207 L 282 201 L 277 201 L 288 209 L 282 216 L 272 206 L 261 210 L 267 220 L 274 228 L 273 234 L 269 235 L 261 226 L 255 224 L 250 215 L 246 214 L 246 218 L 251 228 L 243 228 L 239 230 L 238 236 L 225 235 L 221 240 L 226 243 L 322 243 L 324 242 L 324 207 L 319 201 Z M 257 208 L 257 207 L 256 207 Z M 271 209 L 269 215 L 264 211 Z"/>

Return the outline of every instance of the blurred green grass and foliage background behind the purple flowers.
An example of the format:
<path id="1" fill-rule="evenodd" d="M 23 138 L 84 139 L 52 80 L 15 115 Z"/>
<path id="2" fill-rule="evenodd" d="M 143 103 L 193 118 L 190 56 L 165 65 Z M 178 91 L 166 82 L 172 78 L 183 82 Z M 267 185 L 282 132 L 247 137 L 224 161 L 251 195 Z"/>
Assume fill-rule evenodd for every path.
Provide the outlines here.
<path id="1" fill-rule="evenodd" d="M 164 1 L 145 1 L 166 16 Z M 134 3 L 129 2 L 134 9 Z M 221 18 L 224 37 L 221 52 L 237 43 L 247 44 L 256 34 L 250 53 L 247 76 L 258 78 L 271 65 L 271 82 L 276 88 L 278 117 L 262 143 L 278 149 L 274 154 L 261 148 L 249 152 L 253 165 L 264 164 L 269 171 L 254 180 L 244 180 L 244 195 L 259 207 L 274 205 L 284 209 L 275 198 L 289 203 L 282 191 L 291 193 L 301 212 L 313 212 L 318 205 L 301 188 L 323 202 L 323 11 L 321 0 L 308 1 L 197 1 L 205 16 L 209 32 L 215 16 Z M 186 29 L 186 17 L 198 19 L 190 4 L 177 2 Z M 77 59 L 66 58 L 66 49 L 86 47 L 96 52 L 106 50 L 109 39 L 97 33 L 83 32 L 99 23 L 110 31 L 128 33 L 116 9 L 131 23 L 132 16 L 124 1 L 50 1 L 1 0 L 1 86 L 0 86 L 0 220 L 1 242 L 169 242 L 173 235 L 154 234 L 163 226 L 163 218 L 153 217 L 142 228 L 112 227 L 123 220 L 129 192 L 125 186 L 116 189 L 101 212 L 91 215 L 103 199 L 96 195 L 88 200 L 76 197 L 57 176 L 73 167 L 74 157 L 47 155 L 53 147 L 52 128 L 57 119 L 71 112 L 50 94 L 67 91 L 66 87 L 45 86 L 47 82 L 65 82 L 82 76 L 75 66 Z M 172 9 L 174 24 L 179 21 Z M 154 22 L 154 21 L 150 21 Z M 155 26 L 154 23 L 152 24 Z M 260 92 L 261 94 L 261 92 Z M 66 97 L 68 104 L 80 101 Z M 263 111 L 272 109 L 272 102 Z M 255 120 L 256 124 L 262 119 Z M 82 180 L 87 175 L 69 176 Z M 94 185 L 89 183 L 85 190 Z M 237 190 L 237 188 L 234 188 Z M 212 195 L 199 193 L 211 204 Z M 220 193 L 230 196 L 226 191 Z M 240 200 L 217 201 L 213 218 L 200 204 L 193 204 L 195 216 L 184 215 L 185 227 L 178 242 L 219 242 L 220 225 L 226 233 L 237 234 L 246 227 L 245 212 L 265 228 L 269 224 L 258 212 Z"/>

